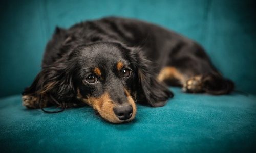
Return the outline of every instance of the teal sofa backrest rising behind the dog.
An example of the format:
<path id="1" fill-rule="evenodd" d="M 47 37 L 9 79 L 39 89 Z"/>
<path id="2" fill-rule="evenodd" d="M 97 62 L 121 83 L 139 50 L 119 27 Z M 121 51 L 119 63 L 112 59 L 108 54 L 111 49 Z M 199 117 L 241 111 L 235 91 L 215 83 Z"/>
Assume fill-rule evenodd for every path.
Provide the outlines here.
<path id="1" fill-rule="evenodd" d="M 56 25 L 110 15 L 160 24 L 198 41 L 237 90 L 256 93 L 255 6 L 247 0 L 0 2 L 0 96 L 31 84 Z"/>

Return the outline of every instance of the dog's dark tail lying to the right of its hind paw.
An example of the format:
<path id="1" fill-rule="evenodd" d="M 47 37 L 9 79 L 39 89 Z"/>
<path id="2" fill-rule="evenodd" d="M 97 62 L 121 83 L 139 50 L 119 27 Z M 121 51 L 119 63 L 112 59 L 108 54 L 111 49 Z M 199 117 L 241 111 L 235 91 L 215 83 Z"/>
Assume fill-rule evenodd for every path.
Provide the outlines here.
<path id="1" fill-rule="evenodd" d="M 229 94 L 234 90 L 234 83 L 220 75 L 206 75 L 203 77 L 203 90 L 214 95 Z"/>

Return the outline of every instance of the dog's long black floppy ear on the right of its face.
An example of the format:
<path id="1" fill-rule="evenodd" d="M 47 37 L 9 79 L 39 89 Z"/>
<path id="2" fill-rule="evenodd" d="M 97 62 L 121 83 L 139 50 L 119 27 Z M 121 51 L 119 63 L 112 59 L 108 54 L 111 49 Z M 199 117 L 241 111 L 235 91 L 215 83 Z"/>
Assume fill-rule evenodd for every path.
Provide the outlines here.
<path id="1" fill-rule="evenodd" d="M 136 75 L 142 99 L 153 107 L 164 106 L 173 93 L 157 80 L 153 64 L 147 60 L 140 49 L 133 49 L 130 55 L 136 67 Z M 138 95 L 140 97 L 140 95 Z"/>

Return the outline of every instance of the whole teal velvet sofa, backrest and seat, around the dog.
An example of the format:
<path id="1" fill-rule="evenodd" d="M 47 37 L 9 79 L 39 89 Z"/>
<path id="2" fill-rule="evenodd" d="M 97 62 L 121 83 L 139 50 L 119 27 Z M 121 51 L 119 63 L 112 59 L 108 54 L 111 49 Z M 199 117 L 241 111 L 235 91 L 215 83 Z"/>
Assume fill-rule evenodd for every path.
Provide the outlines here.
<path id="1" fill-rule="evenodd" d="M 0 152 L 255 152 L 256 31 L 253 1 L 0 2 Z M 89 106 L 57 114 L 22 106 L 55 26 L 104 16 L 146 20 L 199 42 L 236 83 L 229 95 L 175 93 L 111 124 Z"/>

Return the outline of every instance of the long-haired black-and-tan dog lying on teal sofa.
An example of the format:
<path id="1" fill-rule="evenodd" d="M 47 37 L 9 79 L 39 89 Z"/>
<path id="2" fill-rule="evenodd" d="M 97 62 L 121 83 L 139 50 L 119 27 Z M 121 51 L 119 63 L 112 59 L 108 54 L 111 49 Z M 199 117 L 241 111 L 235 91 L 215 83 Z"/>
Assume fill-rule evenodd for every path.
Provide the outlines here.
<path id="1" fill-rule="evenodd" d="M 56 27 L 22 99 L 42 110 L 87 104 L 106 121 L 123 123 L 135 118 L 136 103 L 164 106 L 174 96 L 168 85 L 214 95 L 234 89 L 195 41 L 145 21 L 106 17 Z"/>

